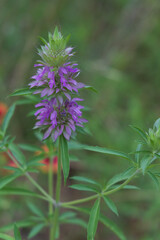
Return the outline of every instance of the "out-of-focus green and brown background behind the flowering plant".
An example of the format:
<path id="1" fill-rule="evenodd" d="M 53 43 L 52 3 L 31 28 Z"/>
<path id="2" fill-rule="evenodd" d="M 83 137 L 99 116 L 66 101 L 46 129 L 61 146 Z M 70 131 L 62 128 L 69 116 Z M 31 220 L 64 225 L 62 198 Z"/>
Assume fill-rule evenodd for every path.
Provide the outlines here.
<path id="1" fill-rule="evenodd" d="M 91 135 L 79 135 L 79 141 L 134 151 L 137 135 L 129 125 L 147 130 L 160 116 L 160 1 L 1 0 L 1 102 L 10 105 L 13 99 L 6 96 L 30 81 L 38 59 L 38 36 L 46 38 L 56 25 L 65 36 L 71 34 L 69 43 L 75 47 L 81 69 L 79 80 L 98 90 L 97 94 L 82 93 L 90 109 L 85 116 Z M 32 131 L 34 120 L 27 116 L 30 110 L 33 106 L 19 106 L 10 130 L 17 142 L 38 144 Z M 72 165 L 71 174 L 93 176 L 102 183 L 128 166 L 123 159 L 85 151 L 76 154 L 80 162 Z M 42 174 L 38 178 L 46 187 L 47 177 Z M 105 208 L 103 213 L 123 229 L 128 240 L 159 240 L 160 193 L 147 177 L 135 183 L 141 190 L 124 190 L 112 197 L 120 217 Z M 28 183 L 22 179 L 16 184 Z M 69 200 L 77 192 L 64 190 L 64 195 Z M 37 204 L 45 210 L 45 205 Z M 1 197 L 0 227 L 28 214 L 26 199 Z M 62 230 L 61 240 L 85 239 L 85 230 L 80 227 L 66 225 Z M 29 230 L 21 231 L 27 239 Z M 43 230 L 34 239 L 47 239 L 47 234 Z M 118 238 L 100 225 L 96 239 Z"/>

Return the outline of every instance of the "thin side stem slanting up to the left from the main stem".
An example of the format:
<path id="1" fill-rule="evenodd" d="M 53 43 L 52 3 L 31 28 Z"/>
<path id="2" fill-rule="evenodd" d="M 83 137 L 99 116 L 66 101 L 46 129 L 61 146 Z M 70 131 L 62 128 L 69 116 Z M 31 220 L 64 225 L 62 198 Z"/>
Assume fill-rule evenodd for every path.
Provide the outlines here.
<path id="1" fill-rule="evenodd" d="M 24 172 L 24 169 L 20 166 L 18 161 L 13 157 L 13 155 L 7 151 L 8 156 L 13 160 L 13 162 L 18 166 L 18 168 Z M 30 176 L 28 172 L 24 172 L 24 175 L 29 179 L 29 181 L 51 202 L 53 205 L 56 204 L 56 201 L 49 196 L 49 194 Z"/>

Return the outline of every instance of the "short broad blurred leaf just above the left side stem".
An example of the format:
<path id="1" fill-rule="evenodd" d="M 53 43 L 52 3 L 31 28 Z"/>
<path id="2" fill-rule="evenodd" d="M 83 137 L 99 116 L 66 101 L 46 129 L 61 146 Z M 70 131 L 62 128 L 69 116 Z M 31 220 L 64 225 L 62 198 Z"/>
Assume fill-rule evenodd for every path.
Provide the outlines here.
<path id="1" fill-rule="evenodd" d="M 15 159 L 21 163 L 22 166 L 25 166 L 25 156 L 24 154 L 20 151 L 20 149 L 18 148 L 18 146 L 14 143 L 11 143 L 9 145 L 9 150 L 11 151 L 12 155 L 15 157 Z"/>

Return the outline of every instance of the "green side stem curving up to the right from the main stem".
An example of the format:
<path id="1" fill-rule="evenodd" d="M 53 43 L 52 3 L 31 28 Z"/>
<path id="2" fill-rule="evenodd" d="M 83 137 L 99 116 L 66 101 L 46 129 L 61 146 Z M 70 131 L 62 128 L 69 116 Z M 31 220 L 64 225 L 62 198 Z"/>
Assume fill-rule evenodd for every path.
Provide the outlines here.
<path id="1" fill-rule="evenodd" d="M 88 202 L 88 201 L 91 201 L 93 199 L 96 199 L 99 196 L 107 196 L 107 195 L 110 195 L 112 193 L 115 193 L 115 192 L 121 190 L 124 186 L 126 186 L 135 177 L 135 175 L 137 175 L 138 172 L 139 172 L 139 170 L 135 171 L 130 178 L 128 178 L 126 181 L 124 181 L 124 183 L 122 183 L 119 187 L 117 187 L 115 189 L 112 189 L 112 190 L 107 191 L 107 192 L 102 192 L 101 194 L 96 194 L 96 195 L 93 195 L 91 197 L 77 199 L 77 200 L 66 202 L 66 203 L 61 203 L 60 206 L 61 207 L 68 207 L 68 206 L 75 205 L 75 204 L 81 204 L 81 203 Z"/>

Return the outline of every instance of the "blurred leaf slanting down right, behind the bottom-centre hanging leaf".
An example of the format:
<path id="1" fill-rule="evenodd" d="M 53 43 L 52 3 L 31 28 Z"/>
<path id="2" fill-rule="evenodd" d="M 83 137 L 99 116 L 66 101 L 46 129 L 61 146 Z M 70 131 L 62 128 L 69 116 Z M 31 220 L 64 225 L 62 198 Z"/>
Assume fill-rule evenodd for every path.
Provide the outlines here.
<path id="1" fill-rule="evenodd" d="M 90 214 L 91 211 L 88 208 L 81 207 L 74 207 L 74 209 L 88 215 Z M 112 220 L 108 219 L 103 214 L 100 214 L 99 221 L 103 223 L 107 228 L 109 228 L 120 240 L 127 240 L 122 230 Z"/>

